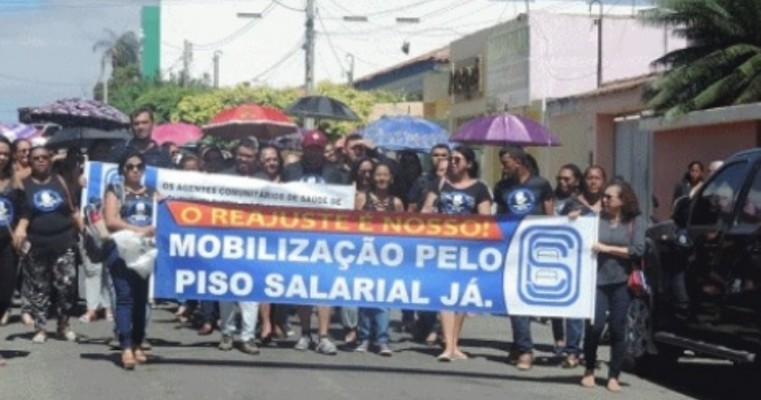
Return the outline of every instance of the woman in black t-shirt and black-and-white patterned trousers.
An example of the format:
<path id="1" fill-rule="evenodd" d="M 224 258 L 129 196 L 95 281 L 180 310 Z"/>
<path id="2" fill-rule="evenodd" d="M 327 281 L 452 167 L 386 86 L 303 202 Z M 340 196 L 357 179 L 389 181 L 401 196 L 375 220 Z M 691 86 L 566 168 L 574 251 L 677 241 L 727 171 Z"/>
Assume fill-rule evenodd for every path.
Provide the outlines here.
<path id="1" fill-rule="evenodd" d="M 66 183 L 52 172 L 50 150 L 33 147 L 30 157 L 32 172 L 22 181 L 28 213 L 19 221 L 16 240 L 19 250 L 26 254 L 22 257 L 22 292 L 34 319 L 36 333 L 32 341 L 47 340 L 45 325 L 51 295 L 58 333 L 75 341 L 69 310 L 77 276 L 76 235 L 82 231 L 82 219 L 71 203 Z"/>

